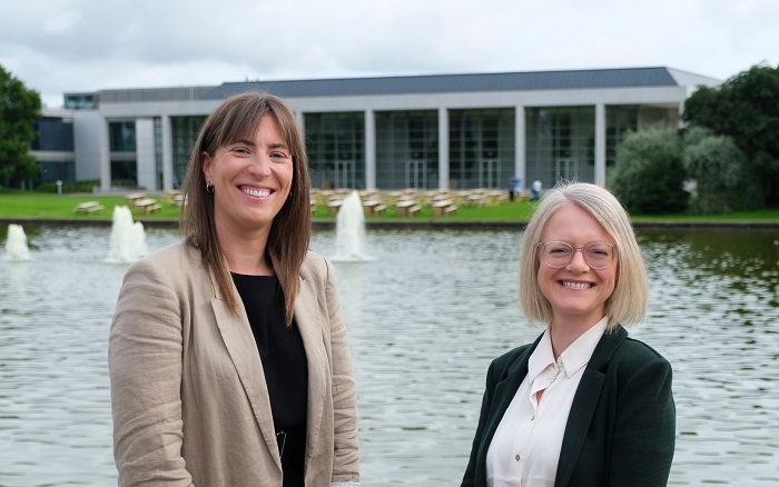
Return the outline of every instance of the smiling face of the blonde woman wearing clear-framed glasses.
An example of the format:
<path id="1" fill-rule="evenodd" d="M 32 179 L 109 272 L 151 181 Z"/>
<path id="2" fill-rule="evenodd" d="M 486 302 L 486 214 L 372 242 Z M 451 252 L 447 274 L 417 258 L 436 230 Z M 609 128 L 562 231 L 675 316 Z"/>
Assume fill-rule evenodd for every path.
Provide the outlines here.
<path id="1" fill-rule="evenodd" d="M 574 248 L 592 242 L 615 245 L 614 239 L 585 210 L 565 205 L 546 220 L 541 241 L 564 241 Z M 605 301 L 614 291 L 618 260 L 605 269 L 592 269 L 581 251 L 565 267 L 555 269 L 544 264 L 540 250 L 539 287 L 552 308 L 552 326 L 588 328 L 605 312 Z"/>

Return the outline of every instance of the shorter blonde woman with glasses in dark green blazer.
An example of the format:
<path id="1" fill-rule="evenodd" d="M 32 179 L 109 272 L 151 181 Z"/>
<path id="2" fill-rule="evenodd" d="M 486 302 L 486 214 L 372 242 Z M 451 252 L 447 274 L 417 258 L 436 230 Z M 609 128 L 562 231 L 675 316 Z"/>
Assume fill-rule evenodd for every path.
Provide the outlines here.
<path id="1" fill-rule="evenodd" d="M 544 332 L 496 358 L 463 486 L 665 486 L 671 366 L 623 324 L 643 319 L 641 249 L 620 202 L 560 185 L 525 228 L 520 306 Z"/>

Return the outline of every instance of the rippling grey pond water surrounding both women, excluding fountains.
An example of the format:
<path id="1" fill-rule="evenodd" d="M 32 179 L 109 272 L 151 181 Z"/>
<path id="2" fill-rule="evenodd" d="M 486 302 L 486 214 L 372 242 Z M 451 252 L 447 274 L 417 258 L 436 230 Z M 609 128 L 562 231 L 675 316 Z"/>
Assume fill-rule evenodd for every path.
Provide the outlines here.
<path id="1" fill-rule="evenodd" d="M 127 265 L 108 228 L 31 228 L 0 259 L 0 485 L 111 485 L 106 341 Z M 147 229 L 149 250 L 177 238 Z M 457 485 L 492 358 L 533 339 L 516 312 L 519 231 L 369 230 L 336 262 L 357 376 L 363 485 Z M 4 239 L 0 235 L 0 244 Z M 332 257 L 334 231 L 312 247 Z M 779 485 L 779 232 L 643 233 L 647 322 L 671 360 L 670 485 Z"/>

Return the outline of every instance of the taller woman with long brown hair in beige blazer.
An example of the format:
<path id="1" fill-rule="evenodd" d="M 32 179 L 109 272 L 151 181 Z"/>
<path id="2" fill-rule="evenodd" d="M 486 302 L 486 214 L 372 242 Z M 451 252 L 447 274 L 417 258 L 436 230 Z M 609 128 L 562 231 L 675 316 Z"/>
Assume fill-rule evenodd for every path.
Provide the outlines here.
<path id="1" fill-rule="evenodd" d="M 130 267 L 111 324 L 119 485 L 358 486 L 344 318 L 333 266 L 308 250 L 308 161 L 287 105 L 226 99 L 184 201 L 184 239 Z"/>

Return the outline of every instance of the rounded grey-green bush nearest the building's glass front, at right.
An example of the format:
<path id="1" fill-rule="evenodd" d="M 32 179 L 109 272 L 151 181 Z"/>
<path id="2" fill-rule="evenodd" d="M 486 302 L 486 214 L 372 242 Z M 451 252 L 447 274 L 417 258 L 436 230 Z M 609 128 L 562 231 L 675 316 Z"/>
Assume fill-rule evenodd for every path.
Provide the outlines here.
<path id="1" fill-rule="evenodd" d="M 631 212 L 674 213 L 687 208 L 684 179 L 677 131 L 654 126 L 625 133 L 609 187 Z"/>

